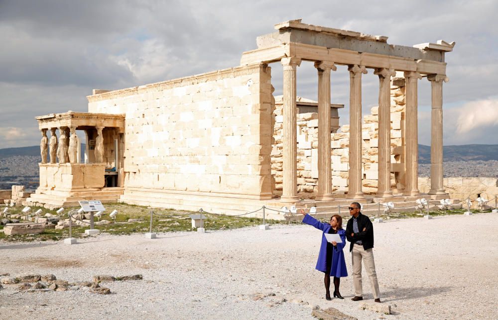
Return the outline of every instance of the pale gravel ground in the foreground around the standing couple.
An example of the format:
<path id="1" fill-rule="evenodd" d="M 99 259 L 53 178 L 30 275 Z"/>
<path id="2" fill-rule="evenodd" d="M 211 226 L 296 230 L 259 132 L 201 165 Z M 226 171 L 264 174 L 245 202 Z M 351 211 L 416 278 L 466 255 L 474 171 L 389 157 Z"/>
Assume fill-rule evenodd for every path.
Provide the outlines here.
<path id="1" fill-rule="evenodd" d="M 102 284 L 110 295 L 24 293 L 4 285 L 0 318 L 315 319 L 311 308 L 319 305 L 358 319 L 496 319 L 496 229 L 498 214 L 492 213 L 375 224 L 375 264 L 390 316 L 360 310 L 350 300 L 351 276 L 342 278 L 345 300 L 324 299 L 323 274 L 314 270 L 321 233 L 308 225 L 174 232 L 157 239 L 99 235 L 71 246 L 0 243 L 0 273 L 11 276 L 53 273 L 71 282 L 97 274 L 143 275 Z M 346 263 L 351 271 L 349 252 Z M 363 285 L 366 302 L 373 302 L 365 274 Z"/>

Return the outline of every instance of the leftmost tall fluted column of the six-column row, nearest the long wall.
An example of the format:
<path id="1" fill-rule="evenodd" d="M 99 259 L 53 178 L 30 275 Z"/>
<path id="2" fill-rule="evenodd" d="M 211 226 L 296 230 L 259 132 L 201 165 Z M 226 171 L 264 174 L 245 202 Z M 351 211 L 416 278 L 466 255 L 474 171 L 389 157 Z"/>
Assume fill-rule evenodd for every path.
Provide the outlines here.
<path id="1" fill-rule="evenodd" d="M 298 58 L 282 58 L 283 66 L 283 202 L 297 197 L 296 68 Z"/>

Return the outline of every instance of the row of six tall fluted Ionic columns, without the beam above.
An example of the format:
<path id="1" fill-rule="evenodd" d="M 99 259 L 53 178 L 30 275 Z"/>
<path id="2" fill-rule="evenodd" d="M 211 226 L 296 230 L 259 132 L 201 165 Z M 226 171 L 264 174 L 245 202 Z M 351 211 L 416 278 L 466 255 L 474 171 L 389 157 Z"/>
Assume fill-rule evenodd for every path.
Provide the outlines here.
<path id="1" fill-rule="evenodd" d="M 283 58 L 283 202 L 296 202 L 297 197 L 297 141 L 296 141 L 296 69 L 298 58 Z M 318 194 L 316 200 L 332 200 L 332 168 L 330 161 L 330 72 L 336 70 L 331 61 L 315 63 L 318 70 Z M 362 74 L 365 66 L 352 65 L 350 72 L 350 147 L 349 191 L 350 198 L 363 198 L 362 192 Z M 391 197 L 391 142 L 390 142 L 390 80 L 393 69 L 377 68 L 378 96 L 378 186 L 377 197 Z M 417 84 L 418 72 L 405 72 L 405 195 L 415 196 L 418 190 L 418 126 Z M 442 81 L 441 75 L 429 76 L 432 83 L 432 139 L 431 139 L 431 191 L 444 194 L 442 175 Z M 99 133 L 101 136 L 101 133 Z M 96 146 L 97 152 L 97 146 Z"/>

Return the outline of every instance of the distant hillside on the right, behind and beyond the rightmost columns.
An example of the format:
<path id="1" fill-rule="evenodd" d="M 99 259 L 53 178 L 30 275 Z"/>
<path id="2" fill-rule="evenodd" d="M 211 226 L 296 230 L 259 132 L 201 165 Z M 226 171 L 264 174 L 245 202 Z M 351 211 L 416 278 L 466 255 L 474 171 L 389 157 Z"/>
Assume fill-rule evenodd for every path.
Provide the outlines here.
<path id="1" fill-rule="evenodd" d="M 445 145 L 444 161 L 498 160 L 498 144 Z M 431 147 L 418 145 L 418 163 L 431 163 Z"/>

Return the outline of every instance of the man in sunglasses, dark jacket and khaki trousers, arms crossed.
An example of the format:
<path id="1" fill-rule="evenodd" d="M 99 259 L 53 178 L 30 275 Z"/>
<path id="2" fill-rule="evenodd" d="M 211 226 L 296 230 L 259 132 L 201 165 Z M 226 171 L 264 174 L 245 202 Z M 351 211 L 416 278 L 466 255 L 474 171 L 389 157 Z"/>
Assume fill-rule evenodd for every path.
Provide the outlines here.
<path id="1" fill-rule="evenodd" d="M 354 202 L 349 207 L 352 217 L 346 226 L 346 237 L 351 242 L 349 251 L 351 252 L 353 264 L 353 282 L 355 284 L 355 297 L 351 300 L 363 300 L 362 288 L 362 260 L 370 279 L 370 286 L 373 289 L 375 302 L 380 302 L 380 292 L 378 290 L 377 274 L 375 273 L 375 262 L 373 261 L 373 224 L 369 217 L 361 213 L 361 205 Z"/>

